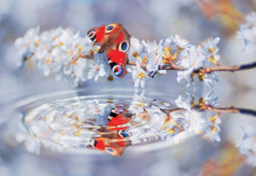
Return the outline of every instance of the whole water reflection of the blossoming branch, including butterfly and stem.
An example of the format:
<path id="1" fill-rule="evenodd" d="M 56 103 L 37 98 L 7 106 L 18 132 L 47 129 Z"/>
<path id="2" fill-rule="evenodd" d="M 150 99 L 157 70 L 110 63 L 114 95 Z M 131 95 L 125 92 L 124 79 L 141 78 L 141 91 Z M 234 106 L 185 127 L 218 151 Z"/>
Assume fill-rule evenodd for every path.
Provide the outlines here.
<path id="1" fill-rule="evenodd" d="M 128 99 L 74 97 L 56 100 L 21 115 L 18 141 L 27 151 L 40 153 L 41 145 L 62 151 L 88 148 L 121 156 L 131 145 L 168 140 L 178 144 L 194 135 L 219 142 L 220 114 L 255 114 L 250 110 L 214 108 L 213 93 L 195 99 L 180 95 L 176 107 L 135 94 Z"/>

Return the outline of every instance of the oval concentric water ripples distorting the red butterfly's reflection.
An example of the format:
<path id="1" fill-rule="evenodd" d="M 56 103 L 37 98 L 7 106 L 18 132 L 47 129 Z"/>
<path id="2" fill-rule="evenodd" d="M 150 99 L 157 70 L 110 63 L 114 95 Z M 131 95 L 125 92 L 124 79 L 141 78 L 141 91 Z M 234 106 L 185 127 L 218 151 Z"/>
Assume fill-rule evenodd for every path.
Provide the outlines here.
<path id="1" fill-rule="evenodd" d="M 128 146 L 170 140 L 185 129 L 180 121 L 183 114 L 177 114 L 180 122 L 170 121 L 170 104 L 144 94 L 75 96 L 27 107 L 21 111 L 20 131 L 15 136 L 36 153 L 44 146 L 120 156 Z"/>

